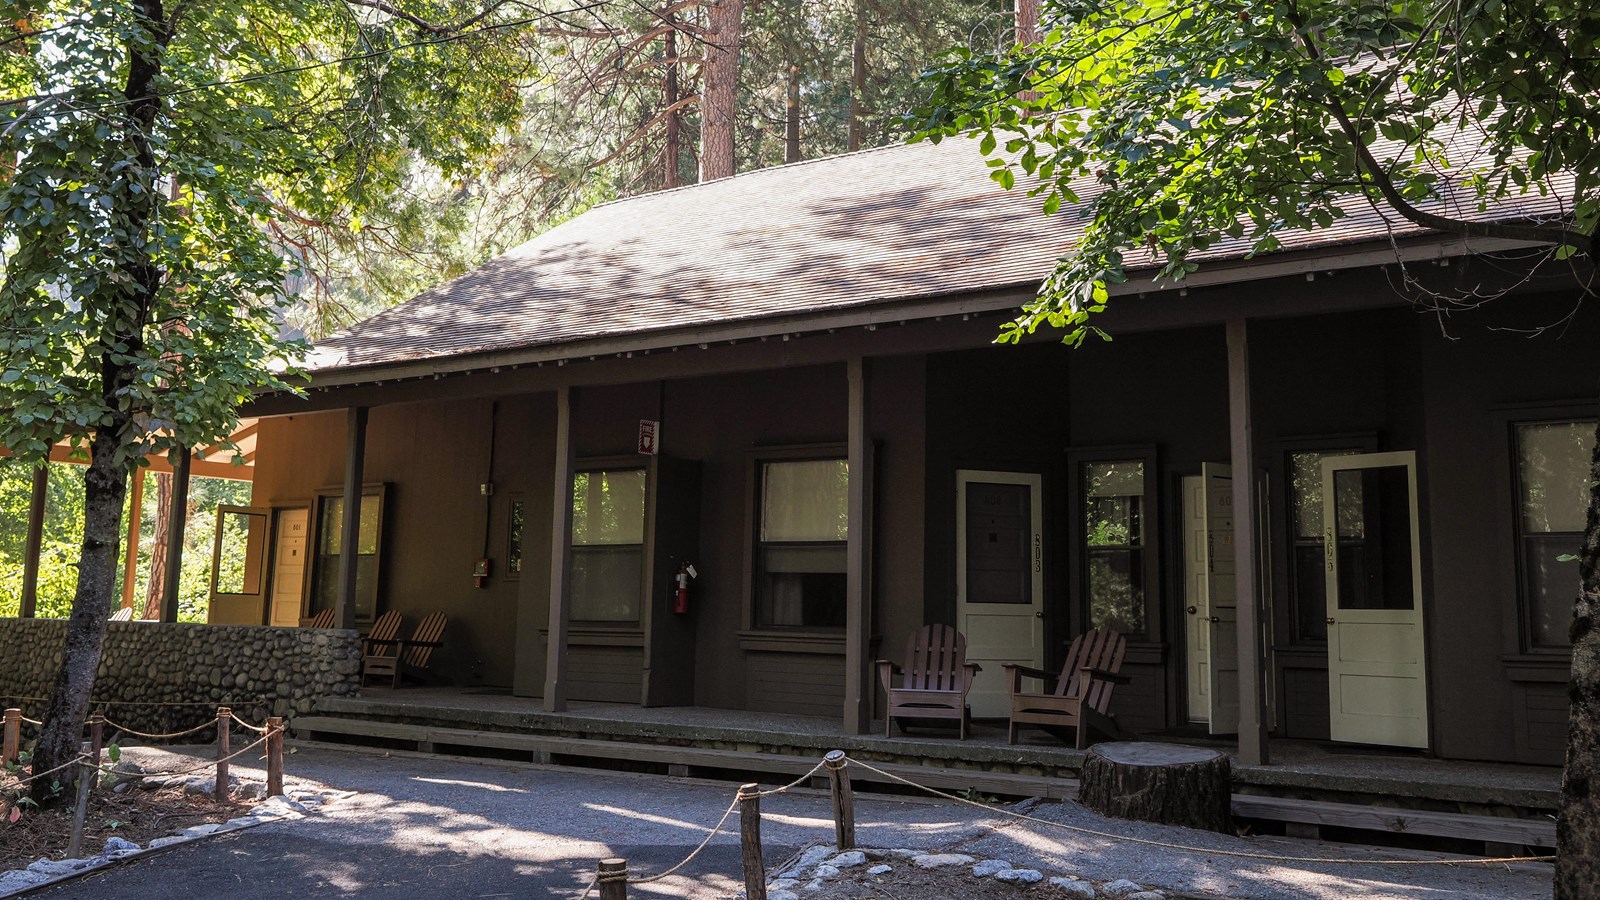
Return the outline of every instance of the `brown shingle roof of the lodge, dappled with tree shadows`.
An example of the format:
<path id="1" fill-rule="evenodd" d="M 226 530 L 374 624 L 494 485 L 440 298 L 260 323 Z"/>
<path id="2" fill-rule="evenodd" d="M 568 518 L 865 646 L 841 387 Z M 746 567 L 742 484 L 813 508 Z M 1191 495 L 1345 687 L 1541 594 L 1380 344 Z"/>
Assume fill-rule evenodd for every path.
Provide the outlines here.
<path id="1" fill-rule="evenodd" d="M 1083 219 L 987 176 L 974 143 L 899 144 L 763 168 L 597 207 L 317 344 L 307 365 L 352 368 L 805 315 L 1032 285 Z M 1093 184 L 1082 184 L 1088 199 Z M 1429 207 L 1490 218 L 1464 199 Z M 1550 197 L 1493 218 L 1552 216 Z M 1418 234 L 1357 203 L 1286 250 Z M 1245 256 L 1248 240 L 1197 259 Z"/>

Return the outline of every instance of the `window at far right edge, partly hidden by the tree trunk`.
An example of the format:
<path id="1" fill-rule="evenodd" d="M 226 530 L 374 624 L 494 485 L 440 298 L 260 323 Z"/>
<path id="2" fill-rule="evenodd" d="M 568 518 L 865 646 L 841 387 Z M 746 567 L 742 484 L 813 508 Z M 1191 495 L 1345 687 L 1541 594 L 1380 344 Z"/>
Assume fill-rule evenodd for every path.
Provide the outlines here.
<path id="1" fill-rule="evenodd" d="M 1570 647 L 1579 551 L 1589 514 L 1595 421 L 1517 423 L 1517 554 L 1528 642 Z"/>

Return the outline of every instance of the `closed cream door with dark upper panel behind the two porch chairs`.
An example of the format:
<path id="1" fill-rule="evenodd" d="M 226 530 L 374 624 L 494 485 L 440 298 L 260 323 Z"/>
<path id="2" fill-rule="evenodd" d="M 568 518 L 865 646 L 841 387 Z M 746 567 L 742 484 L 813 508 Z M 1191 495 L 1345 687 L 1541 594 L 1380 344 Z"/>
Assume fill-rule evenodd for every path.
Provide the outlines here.
<path id="1" fill-rule="evenodd" d="M 982 666 L 968 695 L 974 717 L 1011 714 L 1006 663 L 1045 663 L 1042 524 L 1040 476 L 955 472 L 955 626 L 966 661 Z"/>

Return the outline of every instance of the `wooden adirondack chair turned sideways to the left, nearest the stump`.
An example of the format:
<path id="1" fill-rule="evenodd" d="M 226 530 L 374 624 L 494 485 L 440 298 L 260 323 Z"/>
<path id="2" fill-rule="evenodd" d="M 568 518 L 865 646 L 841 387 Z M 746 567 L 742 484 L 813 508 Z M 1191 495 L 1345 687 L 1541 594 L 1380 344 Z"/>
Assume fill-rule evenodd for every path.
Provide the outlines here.
<path id="1" fill-rule="evenodd" d="M 1030 724 L 1045 730 L 1072 725 L 1077 729 L 1077 748 L 1090 745 L 1090 732 L 1123 738 L 1123 732 L 1110 713 L 1110 693 L 1118 684 L 1126 684 L 1122 657 L 1128 641 L 1110 628 L 1094 628 L 1072 639 L 1067 661 L 1061 674 L 1029 666 L 1008 665 L 1011 682 L 1011 729 L 1006 743 L 1016 743 L 1016 727 Z M 1054 693 L 1026 693 L 1022 677 L 1054 679 Z"/>

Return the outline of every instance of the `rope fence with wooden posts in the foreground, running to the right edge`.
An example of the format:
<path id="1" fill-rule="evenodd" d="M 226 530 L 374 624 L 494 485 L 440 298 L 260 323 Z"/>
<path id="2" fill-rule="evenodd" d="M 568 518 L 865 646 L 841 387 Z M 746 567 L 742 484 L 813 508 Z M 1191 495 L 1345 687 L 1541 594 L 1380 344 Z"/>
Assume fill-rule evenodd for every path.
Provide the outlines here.
<path id="1" fill-rule="evenodd" d="M 811 767 L 810 772 L 795 778 L 794 781 L 782 785 L 779 788 L 760 790 L 758 785 L 741 785 L 728 809 L 722 814 L 707 834 L 706 839 L 699 842 L 698 847 L 690 850 L 690 854 L 675 866 L 651 876 L 630 876 L 627 871 L 627 860 L 622 858 L 605 858 L 598 862 L 595 870 L 595 878 L 589 881 L 584 887 L 579 900 L 589 900 L 589 897 L 598 889 L 600 900 L 626 900 L 629 884 L 648 884 L 653 881 L 661 881 L 672 874 L 677 874 L 685 866 L 690 865 L 701 852 L 710 846 L 712 839 L 720 834 L 728 820 L 733 817 L 734 809 L 739 810 L 739 842 L 744 857 L 744 886 L 746 897 L 749 900 L 766 900 L 766 868 L 762 860 L 762 833 L 760 833 L 760 802 L 762 798 L 771 798 L 784 794 L 798 788 L 806 780 L 813 778 L 819 772 L 826 770 L 829 780 L 829 794 L 834 807 L 834 830 L 835 844 L 840 852 L 854 849 L 854 793 L 850 785 L 850 765 L 859 765 L 862 770 L 896 781 L 907 788 L 923 791 L 926 794 L 984 810 L 990 815 L 1006 817 L 1016 822 L 1029 822 L 1034 825 L 1042 825 L 1046 828 L 1058 828 L 1062 831 L 1070 831 L 1074 834 L 1083 834 L 1090 838 L 1099 838 L 1112 842 L 1138 844 L 1146 847 L 1160 847 L 1165 850 L 1174 850 L 1182 854 L 1195 855 L 1211 855 L 1211 857 L 1227 857 L 1227 858 L 1243 858 L 1258 860 L 1269 863 L 1288 863 L 1288 865 L 1325 865 L 1325 866 L 1486 866 L 1486 865 L 1509 865 L 1509 863 L 1539 863 L 1552 862 L 1552 855 L 1533 855 L 1533 857 L 1467 857 L 1467 858 L 1438 858 L 1438 860 L 1373 860 L 1373 858 L 1354 858 L 1354 857 L 1296 857 L 1282 854 L 1262 854 L 1250 850 L 1226 850 L 1219 847 L 1197 847 L 1192 844 L 1178 844 L 1171 841 L 1155 841 L 1149 838 L 1134 838 L 1131 834 L 1118 834 L 1115 831 L 1102 831 L 1096 828 L 1085 828 L 1082 825 L 1069 825 L 1066 822 L 1053 822 L 1048 818 L 1040 818 L 1037 815 L 1029 815 L 1024 812 L 1016 812 L 1003 807 L 989 806 L 973 799 L 966 799 L 960 794 L 952 794 L 949 791 L 941 791 L 938 788 L 922 785 L 912 778 L 896 775 L 870 762 L 854 759 L 846 756 L 843 751 L 835 749 L 822 757 L 821 762 Z M 1003 828 L 1005 825 L 986 825 L 976 823 L 979 826 L 987 826 L 990 830 Z"/>

